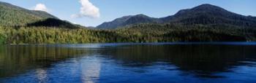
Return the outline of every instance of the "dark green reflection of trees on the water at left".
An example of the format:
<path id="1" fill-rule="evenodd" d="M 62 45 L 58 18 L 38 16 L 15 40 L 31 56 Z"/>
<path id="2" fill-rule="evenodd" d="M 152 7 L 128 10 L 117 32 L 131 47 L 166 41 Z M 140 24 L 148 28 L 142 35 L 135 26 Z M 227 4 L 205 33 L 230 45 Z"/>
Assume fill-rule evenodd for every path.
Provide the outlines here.
<path id="1" fill-rule="evenodd" d="M 52 46 L 1 46 L 0 47 L 0 77 L 12 76 L 34 68 L 49 68 L 52 63 L 67 58 L 78 58 L 88 53 L 87 50 L 77 50 Z M 40 70 L 40 69 L 39 69 Z"/>

